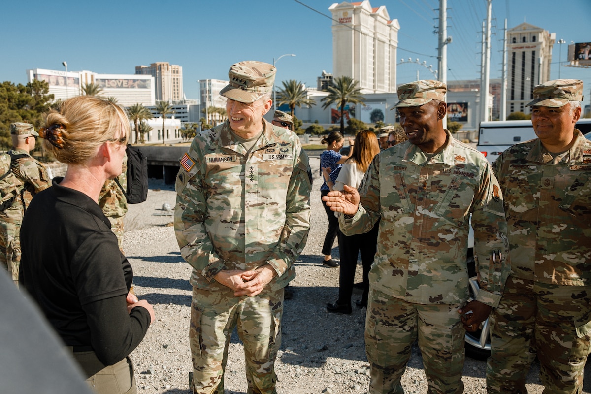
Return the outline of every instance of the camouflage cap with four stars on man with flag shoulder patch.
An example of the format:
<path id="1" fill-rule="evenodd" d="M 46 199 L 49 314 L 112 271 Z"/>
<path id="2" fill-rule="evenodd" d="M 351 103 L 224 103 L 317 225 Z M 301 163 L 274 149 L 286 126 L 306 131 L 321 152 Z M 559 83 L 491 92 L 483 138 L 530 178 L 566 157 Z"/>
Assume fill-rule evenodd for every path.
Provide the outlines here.
<path id="1" fill-rule="evenodd" d="M 230 83 L 220 90 L 220 95 L 241 103 L 254 103 L 263 93 L 272 92 L 275 71 L 275 66 L 256 60 L 232 64 L 228 71 Z"/>

